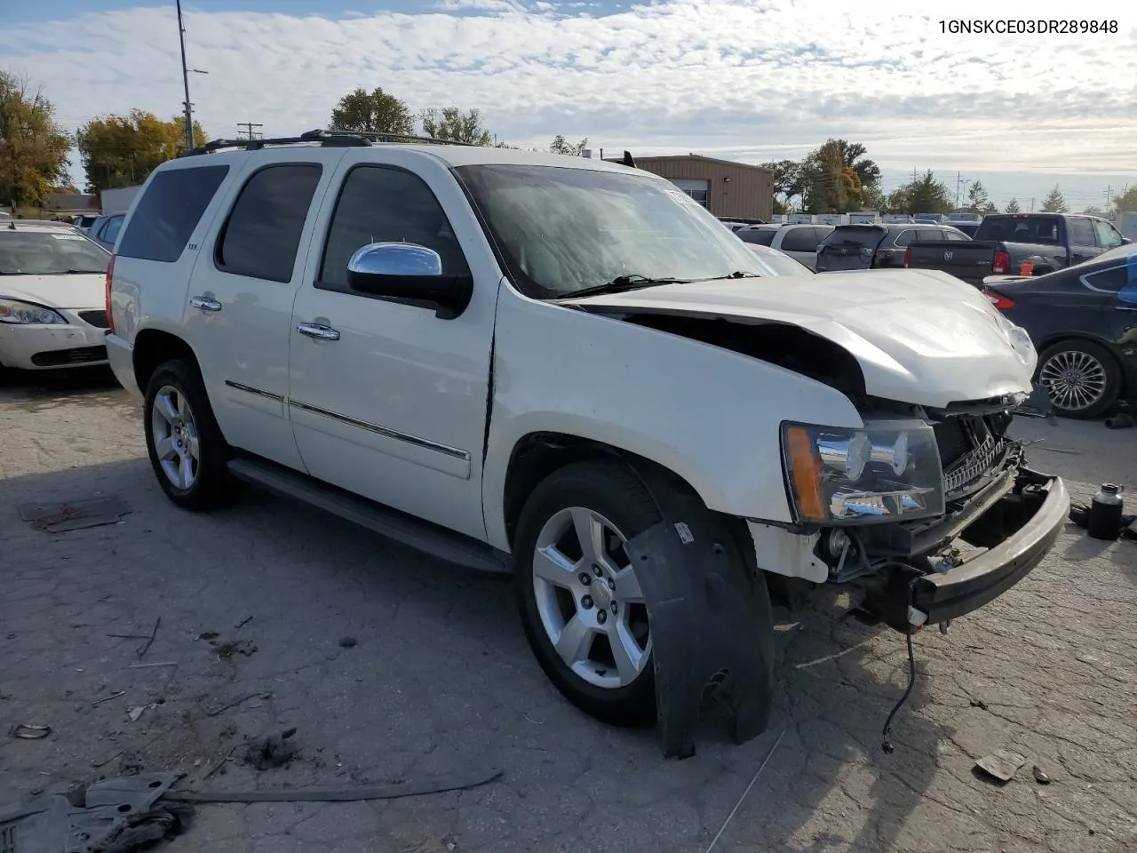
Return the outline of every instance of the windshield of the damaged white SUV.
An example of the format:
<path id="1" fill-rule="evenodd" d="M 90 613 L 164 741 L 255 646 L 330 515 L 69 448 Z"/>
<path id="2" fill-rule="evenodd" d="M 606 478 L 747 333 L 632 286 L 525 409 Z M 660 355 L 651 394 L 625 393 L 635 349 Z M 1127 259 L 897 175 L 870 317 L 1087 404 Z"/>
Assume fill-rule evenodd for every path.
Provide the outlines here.
<path id="1" fill-rule="evenodd" d="M 517 288 L 558 299 L 622 276 L 699 281 L 762 275 L 746 245 L 672 184 L 530 165 L 456 172 Z"/>

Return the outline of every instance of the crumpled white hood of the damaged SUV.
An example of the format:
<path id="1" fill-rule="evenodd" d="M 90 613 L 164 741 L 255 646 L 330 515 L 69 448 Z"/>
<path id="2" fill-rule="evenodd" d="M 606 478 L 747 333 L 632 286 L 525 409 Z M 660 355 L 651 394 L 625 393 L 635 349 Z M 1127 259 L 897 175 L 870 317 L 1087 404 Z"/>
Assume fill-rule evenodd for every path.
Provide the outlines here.
<path id="1" fill-rule="evenodd" d="M 944 407 L 1031 390 L 1026 338 L 1016 350 L 1013 326 L 987 299 L 938 270 L 665 284 L 563 304 L 800 326 L 849 351 L 870 395 L 903 403 Z"/>

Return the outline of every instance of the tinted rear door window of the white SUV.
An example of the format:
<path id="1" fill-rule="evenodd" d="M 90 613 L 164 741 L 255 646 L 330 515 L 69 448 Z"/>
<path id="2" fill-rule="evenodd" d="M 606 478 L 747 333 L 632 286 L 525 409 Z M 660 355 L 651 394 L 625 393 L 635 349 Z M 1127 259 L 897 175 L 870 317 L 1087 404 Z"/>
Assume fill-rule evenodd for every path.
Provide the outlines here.
<path id="1" fill-rule="evenodd" d="M 292 281 L 300 234 L 322 171 L 318 164 L 290 163 L 255 172 L 217 238 L 217 268 L 249 279 Z"/>

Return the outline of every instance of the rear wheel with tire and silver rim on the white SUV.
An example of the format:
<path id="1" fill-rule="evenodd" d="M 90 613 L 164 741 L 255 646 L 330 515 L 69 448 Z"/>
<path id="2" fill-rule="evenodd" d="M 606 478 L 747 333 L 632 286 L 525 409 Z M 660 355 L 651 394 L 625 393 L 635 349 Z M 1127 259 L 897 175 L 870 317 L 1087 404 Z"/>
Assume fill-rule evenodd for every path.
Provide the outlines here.
<path id="1" fill-rule="evenodd" d="M 155 477 L 175 504 L 211 510 L 240 495 L 241 483 L 229 473 L 231 449 L 193 362 L 166 362 L 150 376 L 144 429 Z"/>

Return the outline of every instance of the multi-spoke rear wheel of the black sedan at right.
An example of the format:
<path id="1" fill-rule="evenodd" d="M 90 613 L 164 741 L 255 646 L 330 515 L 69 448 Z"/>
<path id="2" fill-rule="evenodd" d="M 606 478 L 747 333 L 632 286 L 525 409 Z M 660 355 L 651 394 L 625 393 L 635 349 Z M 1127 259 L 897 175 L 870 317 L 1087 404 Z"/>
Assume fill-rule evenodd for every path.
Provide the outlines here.
<path id="1" fill-rule="evenodd" d="M 1055 412 L 1067 417 L 1103 415 L 1121 392 L 1117 361 L 1092 341 L 1067 340 L 1047 347 L 1038 359 L 1038 381 Z"/>

